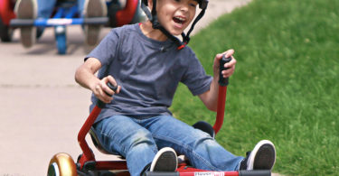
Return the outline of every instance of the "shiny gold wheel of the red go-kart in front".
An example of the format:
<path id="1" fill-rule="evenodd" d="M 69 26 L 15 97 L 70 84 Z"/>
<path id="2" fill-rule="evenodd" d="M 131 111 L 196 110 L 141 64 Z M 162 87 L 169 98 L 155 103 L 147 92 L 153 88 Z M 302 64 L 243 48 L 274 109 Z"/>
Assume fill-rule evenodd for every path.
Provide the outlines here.
<path id="1" fill-rule="evenodd" d="M 48 166 L 48 176 L 77 176 L 77 166 L 67 153 L 55 154 Z"/>

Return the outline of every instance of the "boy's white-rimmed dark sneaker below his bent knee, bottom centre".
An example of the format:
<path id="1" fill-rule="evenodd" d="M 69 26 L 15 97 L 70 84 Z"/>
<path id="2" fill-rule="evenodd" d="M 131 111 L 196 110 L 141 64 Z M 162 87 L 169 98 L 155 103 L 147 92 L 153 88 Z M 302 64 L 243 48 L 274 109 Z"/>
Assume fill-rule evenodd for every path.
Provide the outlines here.
<path id="1" fill-rule="evenodd" d="M 150 171 L 175 171 L 178 166 L 178 158 L 170 147 L 162 148 L 155 154 Z"/>

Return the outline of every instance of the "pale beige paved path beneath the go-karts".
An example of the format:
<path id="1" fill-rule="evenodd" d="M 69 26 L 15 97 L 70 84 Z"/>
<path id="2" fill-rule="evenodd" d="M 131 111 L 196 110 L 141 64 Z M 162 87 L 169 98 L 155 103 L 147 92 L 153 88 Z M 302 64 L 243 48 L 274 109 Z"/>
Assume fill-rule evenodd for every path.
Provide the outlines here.
<path id="1" fill-rule="evenodd" d="M 249 1 L 210 0 L 196 29 Z M 0 176 L 45 175 L 53 154 L 70 153 L 74 159 L 80 154 L 76 139 L 89 113 L 90 92 L 73 77 L 86 52 L 80 27 L 67 32 L 65 56 L 56 54 L 52 29 L 29 50 L 18 42 L 18 31 L 14 42 L 0 42 Z"/>

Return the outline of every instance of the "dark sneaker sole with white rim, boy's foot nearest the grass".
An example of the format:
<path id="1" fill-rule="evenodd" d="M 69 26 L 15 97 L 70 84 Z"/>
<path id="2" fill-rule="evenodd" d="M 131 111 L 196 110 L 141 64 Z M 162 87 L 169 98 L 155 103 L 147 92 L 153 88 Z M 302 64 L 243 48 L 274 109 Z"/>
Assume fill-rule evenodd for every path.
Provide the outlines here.
<path id="1" fill-rule="evenodd" d="M 248 162 L 248 170 L 272 170 L 276 162 L 276 149 L 268 140 L 262 140 L 257 144 Z"/>

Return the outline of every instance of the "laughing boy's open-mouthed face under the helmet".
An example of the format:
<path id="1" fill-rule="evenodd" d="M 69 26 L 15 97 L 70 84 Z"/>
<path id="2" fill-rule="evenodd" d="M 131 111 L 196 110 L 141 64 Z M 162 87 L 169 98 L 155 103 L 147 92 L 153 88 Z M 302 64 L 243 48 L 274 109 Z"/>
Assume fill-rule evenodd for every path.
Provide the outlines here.
<path id="1" fill-rule="evenodd" d="M 159 23 L 173 35 L 180 35 L 193 21 L 197 5 L 195 0 L 157 0 Z"/>

